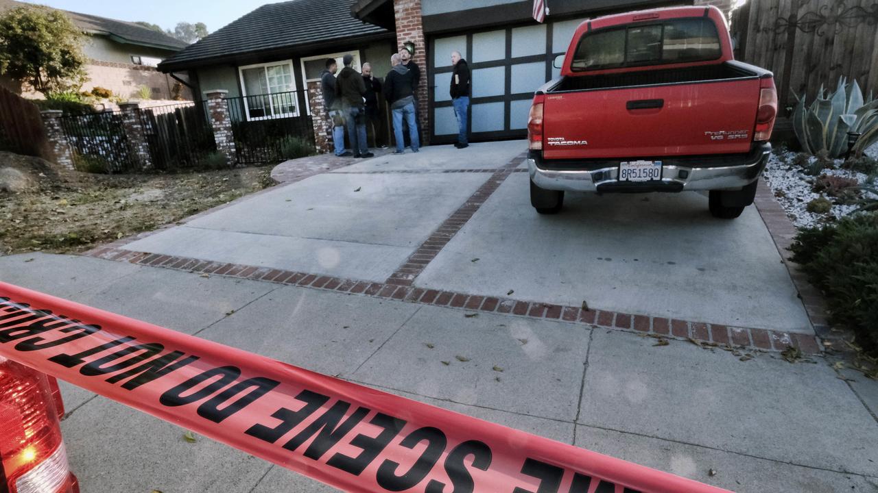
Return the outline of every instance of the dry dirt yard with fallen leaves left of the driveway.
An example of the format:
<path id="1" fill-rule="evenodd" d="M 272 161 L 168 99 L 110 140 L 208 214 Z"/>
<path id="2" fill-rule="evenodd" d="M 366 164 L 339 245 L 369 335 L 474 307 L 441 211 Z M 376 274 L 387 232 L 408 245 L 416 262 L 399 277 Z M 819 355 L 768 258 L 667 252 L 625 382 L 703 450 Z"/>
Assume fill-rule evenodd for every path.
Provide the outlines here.
<path id="1" fill-rule="evenodd" d="M 0 153 L 0 170 L 21 190 L 0 189 L 0 254 L 82 252 L 276 183 L 270 167 L 91 175 L 59 172 L 39 158 L 10 153 Z"/>

